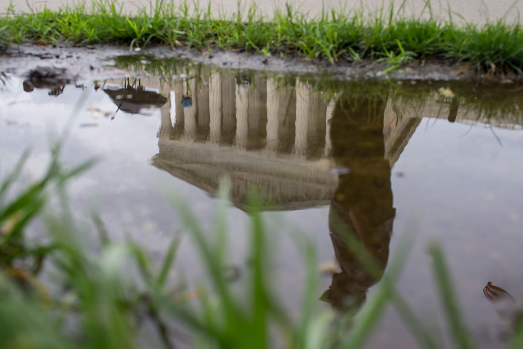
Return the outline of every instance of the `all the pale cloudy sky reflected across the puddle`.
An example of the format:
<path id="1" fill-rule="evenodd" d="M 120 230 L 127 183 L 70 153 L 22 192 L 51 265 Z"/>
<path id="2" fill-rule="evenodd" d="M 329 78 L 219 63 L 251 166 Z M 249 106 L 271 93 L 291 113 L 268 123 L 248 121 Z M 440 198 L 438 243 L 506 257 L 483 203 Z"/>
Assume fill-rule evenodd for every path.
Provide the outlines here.
<path id="1" fill-rule="evenodd" d="M 88 209 L 96 209 L 116 238 L 130 235 L 158 256 L 179 226 L 165 198 L 165 192 L 173 190 L 212 231 L 214 201 L 208 194 L 150 165 L 158 152 L 160 110 L 147 110 L 147 117 L 118 112 L 111 121 L 88 110 L 90 106 L 103 112 L 116 110 L 101 89 L 95 92 L 87 86 L 82 91 L 66 86 L 63 95 L 52 97 L 46 90 L 23 92 L 16 78 L 10 84 L 12 91 L 2 91 L 0 99 L 2 175 L 27 147 L 33 151 L 25 178 L 41 173 L 49 156 L 48 130 L 61 129 L 73 106 L 85 99 L 74 116 L 63 157 L 71 165 L 90 156 L 98 156 L 100 163 L 70 185 L 78 215 L 87 217 Z M 172 111 L 174 122 L 174 106 Z M 473 330 L 486 331 L 491 337 L 496 336 L 493 327 L 498 318 L 482 294 L 486 283 L 492 281 L 523 299 L 523 275 L 519 273 L 523 269 L 523 183 L 519 180 L 523 139 L 519 131 L 494 132 L 503 146 L 492 130 L 481 125 L 471 129 L 446 120 L 422 120 L 392 170 L 397 213 L 391 251 L 409 218 L 414 217 L 419 226 L 400 289 L 418 314 L 440 322 L 426 244 L 431 238 L 442 241 L 467 320 Z M 327 215 L 328 207 L 265 213 L 269 231 L 279 239 L 274 264 L 281 293 L 293 307 L 298 306 L 295 285 L 300 282 L 303 263 L 285 231 L 289 227 L 305 231 L 319 247 L 320 260 L 331 260 L 334 253 Z M 244 212 L 231 209 L 231 258 L 237 263 L 243 263 L 245 218 Z M 186 240 L 178 259 L 179 267 L 190 274 L 196 257 Z M 322 279 L 320 294 L 329 283 L 329 277 Z M 386 314 L 380 328 L 383 335 L 376 336 L 371 346 L 380 347 L 386 341 L 389 347 L 395 347 L 394 343 L 401 347 L 408 342 L 394 312 Z"/>

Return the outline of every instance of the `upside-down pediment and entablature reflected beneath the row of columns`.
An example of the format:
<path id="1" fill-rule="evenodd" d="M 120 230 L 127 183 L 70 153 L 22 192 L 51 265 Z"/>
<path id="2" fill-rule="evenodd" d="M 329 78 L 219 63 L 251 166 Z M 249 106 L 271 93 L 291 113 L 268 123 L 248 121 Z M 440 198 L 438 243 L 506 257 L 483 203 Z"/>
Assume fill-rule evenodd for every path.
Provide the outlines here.
<path id="1" fill-rule="evenodd" d="M 259 191 L 263 209 L 295 210 L 328 205 L 338 185 L 324 161 L 174 140 L 160 140 L 158 146 L 154 166 L 211 195 L 229 177 L 231 199 L 241 209 L 247 208 L 251 188 Z"/>

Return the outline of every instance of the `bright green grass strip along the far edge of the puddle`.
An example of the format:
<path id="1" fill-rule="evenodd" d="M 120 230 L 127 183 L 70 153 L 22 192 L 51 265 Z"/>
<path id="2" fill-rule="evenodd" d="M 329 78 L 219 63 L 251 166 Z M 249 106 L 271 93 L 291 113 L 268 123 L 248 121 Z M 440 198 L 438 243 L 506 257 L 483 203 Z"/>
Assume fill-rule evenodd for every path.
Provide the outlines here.
<path id="1" fill-rule="evenodd" d="M 468 64 L 490 74 L 523 75 L 523 28 L 503 19 L 457 25 L 404 16 L 405 1 L 372 16 L 361 11 L 323 11 L 306 17 L 290 5 L 264 18 L 256 7 L 238 4 L 235 16 L 215 16 L 210 6 L 179 7 L 157 0 L 132 16 L 111 0 L 58 12 L 23 15 L 10 11 L 0 19 L 0 43 L 104 43 L 132 48 L 166 44 L 197 50 L 241 50 L 266 55 L 299 55 L 331 63 L 361 60 L 401 66 L 438 59 Z M 427 1 L 428 12 L 430 3 Z"/>

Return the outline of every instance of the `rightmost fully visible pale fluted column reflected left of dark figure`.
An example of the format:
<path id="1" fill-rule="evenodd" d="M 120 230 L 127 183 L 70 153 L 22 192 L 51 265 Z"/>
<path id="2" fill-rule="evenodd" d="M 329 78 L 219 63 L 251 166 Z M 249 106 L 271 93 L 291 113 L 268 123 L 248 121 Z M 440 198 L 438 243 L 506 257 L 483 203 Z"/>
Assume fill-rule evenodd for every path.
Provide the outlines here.
<path id="1" fill-rule="evenodd" d="M 294 137 L 294 153 L 305 156 L 307 153 L 307 136 L 309 131 L 309 116 L 311 107 L 312 86 L 296 81 L 296 129 Z"/>

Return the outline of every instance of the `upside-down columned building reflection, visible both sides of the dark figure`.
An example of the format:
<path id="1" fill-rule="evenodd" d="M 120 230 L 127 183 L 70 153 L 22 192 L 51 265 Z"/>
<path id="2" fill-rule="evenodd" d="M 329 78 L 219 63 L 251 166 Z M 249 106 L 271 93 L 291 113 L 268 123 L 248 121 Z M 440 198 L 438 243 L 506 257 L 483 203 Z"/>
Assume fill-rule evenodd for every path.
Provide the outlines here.
<path id="1" fill-rule="evenodd" d="M 154 166 L 211 195 L 229 177 L 240 208 L 249 188 L 259 192 L 264 209 L 329 204 L 338 187 L 331 119 L 339 95 L 327 97 L 299 78 L 230 71 L 140 83 L 166 98 Z M 385 156 L 392 163 L 418 122 L 385 112 Z"/>

